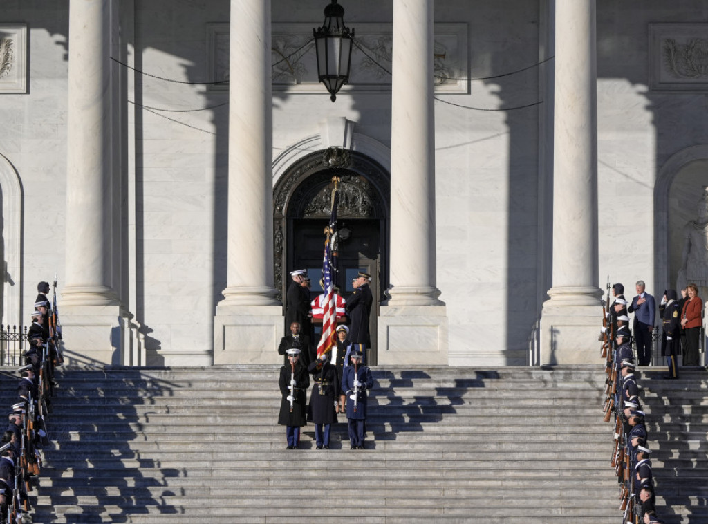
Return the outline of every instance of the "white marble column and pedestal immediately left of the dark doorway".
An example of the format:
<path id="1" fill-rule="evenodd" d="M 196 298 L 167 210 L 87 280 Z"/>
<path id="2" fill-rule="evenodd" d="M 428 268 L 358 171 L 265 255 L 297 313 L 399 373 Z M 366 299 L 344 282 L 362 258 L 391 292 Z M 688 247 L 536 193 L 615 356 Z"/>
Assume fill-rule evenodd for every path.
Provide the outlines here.
<path id="1" fill-rule="evenodd" d="M 273 287 L 270 0 L 232 0 L 230 32 L 227 287 L 217 305 L 214 359 L 276 362 L 268 358 L 278 356 L 282 326 Z"/>

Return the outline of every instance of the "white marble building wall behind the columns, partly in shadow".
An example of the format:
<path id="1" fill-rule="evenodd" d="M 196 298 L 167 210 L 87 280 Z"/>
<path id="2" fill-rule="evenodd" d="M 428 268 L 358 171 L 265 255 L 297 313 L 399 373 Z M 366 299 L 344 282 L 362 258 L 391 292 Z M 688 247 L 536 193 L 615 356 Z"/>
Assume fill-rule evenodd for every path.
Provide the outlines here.
<path id="1" fill-rule="evenodd" d="M 120 312 L 98 343 L 115 348 L 108 358 L 113 363 L 211 365 L 217 304 L 234 286 L 227 276 L 232 149 L 229 91 L 200 82 L 210 80 L 212 72 L 210 27 L 229 22 L 232 2 L 105 1 L 114 8 L 111 23 L 120 25 L 120 40 L 110 52 L 161 78 L 108 64 L 111 163 L 103 190 L 112 220 L 103 225 L 103 241 L 109 239 L 112 255 L 102 276 L 120 300 Z M 348 25 L 389 27 L 396 2 L 340 4 Z M 271 3 L 271 19 L 279 28 L 315 27 L 326 1 Z M 28 321 L 39 280 L 52 280 L 56 273 L 59 292 L 64 291 L 67 251 L 81 246 L 80 239 L 67 238 L 67 231 L 76 235 L 70 224 L 67 229 L 70 4 L 11 0 L 0 11 L 0 26 L 27 24 L 30 58 L 26 92 L 0 93 L 4 324 Z M 466 74 L 472 79 L 525 69 L 553 55 L 550 0 L 434 4 L 435 23 L 467 28 Z M 708 1 L 687 0 L 679 11 L 668 4 L 596 4 L 598 242 L 597 255 L 590 250 L 586 257 L 597 256 L 587 263 L 598 287 L 605 287 L 609 275 L 632 290 L 641 278 L 649 292 L 660 294 L 675 278 L 675 223 L 685 214 L 676 207 L 690 200 L 693 186 L 708 185 L 705 93 L 700 86 L 651 89 L 649 38 L 652 23 L 708 24 Z M 435 101 L 428 130 L 434 127 L 433 286 L 445 304 L 444 321 L 430 333 L 445 328 L 450 365 L 526 363 L 529 338 L 554 286 L 553 220 L 569 218 L 552 216 L 554 72 L 551 59 L 517 74 L 466 81 L 463 92 L 435 93 L 459 106 L 491 109 Z M 239 82 L 233 73 L 230 79 Z M 273 185 L 287 169 L 282 164 L 297 158 L 300 149 L 330 143 L 323 123 L 338 118 L 353 123 L 357 144 L 368 144 L 361 147 L 382 156 L 384 165 L 389 155 L 392 166 L 390 86 L 350 89 L 336 103 L 324 88 L 311 91 L 273 89 Z M 198 108 L 210 109 L 159 111 Z M 247 129 L 240 131 L 248 135 Z M 566 198 L 572 203 L 582 197 Z M 248 253 L 251 246 L 233 249 Z M 121 354 L 115 342 L 116 331 L 130 328 L 126 322 L 141 336 L 123 338 L 137 343 L 142 356 L 128 358 L 130 348 Z M 400 338 L 397 321 L 390 325 Z M 72 351 L 90 360 L 97 343 L 91 341 L 91 347 L 77 341 Z M 586 351 L 595 357 L 593 340 Z"/>

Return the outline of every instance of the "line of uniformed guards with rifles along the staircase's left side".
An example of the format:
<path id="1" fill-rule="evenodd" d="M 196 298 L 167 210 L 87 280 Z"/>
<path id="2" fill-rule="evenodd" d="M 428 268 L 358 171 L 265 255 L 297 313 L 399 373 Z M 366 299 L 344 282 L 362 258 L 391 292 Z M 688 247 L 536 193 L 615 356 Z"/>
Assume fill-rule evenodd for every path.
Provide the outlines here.
<path id="1" fill-rule="evenodd" d="M 0 442 L 0 523 L 21 524 L 30 511 L 29 494 L 38 484 L 42 467 L 40 450 L 50 444 L 46 419 L 57 383 L 54 370 L 62 365 L 61 324 L 57 313 L 56 280 L 53 300 L 50 285 L 40 282 L 32 326 L 28 330 L 25 365 L 17 385 L 17 399 L 8 413 L 9 423 Z"/>

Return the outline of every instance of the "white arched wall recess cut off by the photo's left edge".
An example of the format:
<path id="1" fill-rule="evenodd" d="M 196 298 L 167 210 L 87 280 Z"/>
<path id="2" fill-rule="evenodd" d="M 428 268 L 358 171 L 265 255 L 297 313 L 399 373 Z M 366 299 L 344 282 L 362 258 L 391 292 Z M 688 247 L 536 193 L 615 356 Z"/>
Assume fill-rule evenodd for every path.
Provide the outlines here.
<path id="1" fill-rule="evenodd" d="M 0 153 L 0 204 L 2 224 L 2 323 L 21 325 L 22 320 L 22 183 L 12 163 Z"/>

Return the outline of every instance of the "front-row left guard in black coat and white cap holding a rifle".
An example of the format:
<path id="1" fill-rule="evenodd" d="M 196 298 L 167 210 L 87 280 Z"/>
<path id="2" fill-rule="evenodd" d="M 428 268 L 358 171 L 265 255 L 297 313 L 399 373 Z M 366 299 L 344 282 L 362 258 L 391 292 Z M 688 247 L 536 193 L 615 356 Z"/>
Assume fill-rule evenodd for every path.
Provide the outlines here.
<path id="1" fill-rule="evenodd" d="M 307 426 L 307 399 L 306 392 L 309 387 L 309 375 L 300 363 L 300 350 L 291 348 L 287 350 L 289 365 L 280 368 L 280 416 L 278 424 L 287 426 L 287 449 L 295 450 L 300 443 L 300 428 Z"/>

